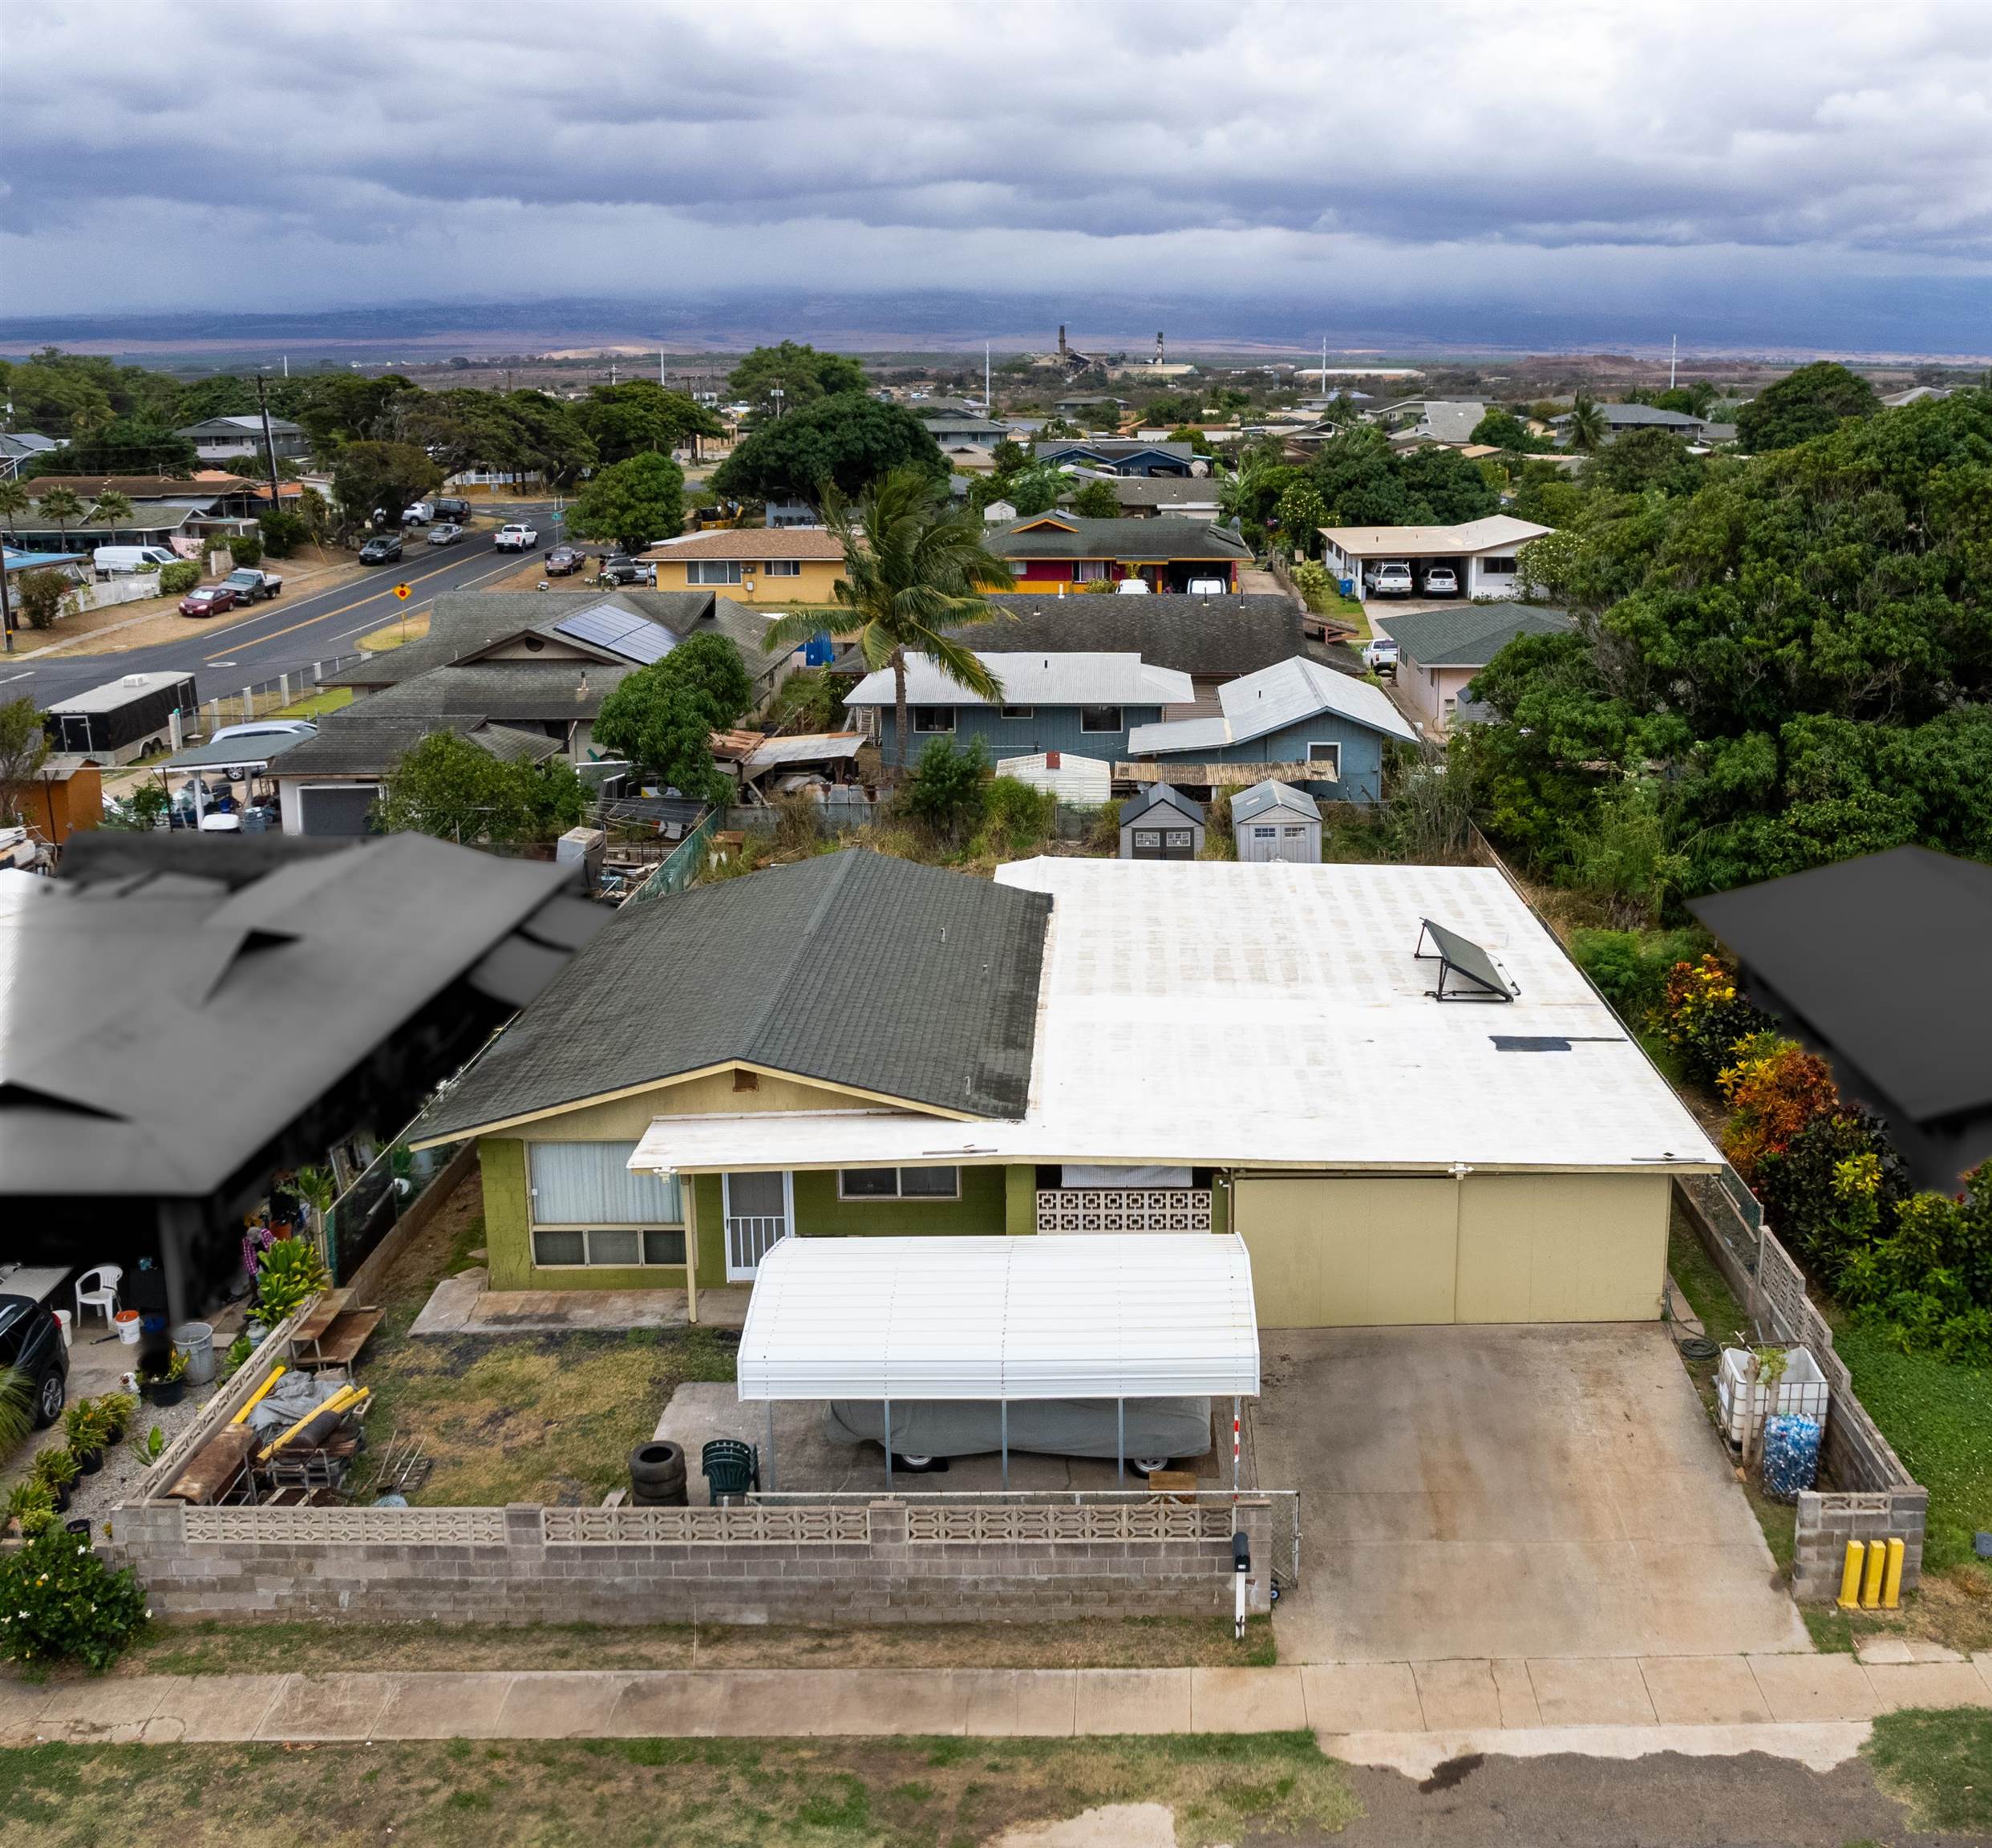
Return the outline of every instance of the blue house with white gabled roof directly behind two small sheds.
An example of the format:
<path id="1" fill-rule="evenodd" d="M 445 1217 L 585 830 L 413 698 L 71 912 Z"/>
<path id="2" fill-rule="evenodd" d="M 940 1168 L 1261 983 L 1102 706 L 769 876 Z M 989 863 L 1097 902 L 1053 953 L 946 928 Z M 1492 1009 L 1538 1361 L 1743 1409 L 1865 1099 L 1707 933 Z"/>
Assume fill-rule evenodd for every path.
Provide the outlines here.
<path id="1" fill-rule="evenodd" d="M 1225 681 L 1217 705 L 1211 717 L 1135 727 L 1131 761 L 1114 775 L 1185 789 L 1271 777 L 1339 803 L 1380 803 L 1384 741 L 1416 741 L 1380 687 L 1305 655 Z"/>

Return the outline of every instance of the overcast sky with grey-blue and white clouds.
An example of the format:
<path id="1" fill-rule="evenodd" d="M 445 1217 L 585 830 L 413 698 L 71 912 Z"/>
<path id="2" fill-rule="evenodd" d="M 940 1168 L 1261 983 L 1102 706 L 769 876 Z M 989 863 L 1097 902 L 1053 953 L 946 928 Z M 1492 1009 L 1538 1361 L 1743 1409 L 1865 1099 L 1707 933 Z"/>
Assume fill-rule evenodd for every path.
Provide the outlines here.
<path id="1" fill-rule="evenodd" d="M 0 6 L 4 315 L 1078 287 L 1942 345 L 1992 4 Z"/>

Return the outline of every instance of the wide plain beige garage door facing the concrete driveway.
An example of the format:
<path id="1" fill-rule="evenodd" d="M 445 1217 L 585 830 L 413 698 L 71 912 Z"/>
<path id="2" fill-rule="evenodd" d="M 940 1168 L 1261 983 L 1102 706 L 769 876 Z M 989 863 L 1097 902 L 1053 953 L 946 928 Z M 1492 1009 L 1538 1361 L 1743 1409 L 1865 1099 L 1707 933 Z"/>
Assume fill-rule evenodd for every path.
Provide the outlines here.
<path id="1" fill-rule="evenodd" d="M 1235 1223 L 1265 1328 L 1659 1314 L 1665 1175 L 1259 1179 Z"/>

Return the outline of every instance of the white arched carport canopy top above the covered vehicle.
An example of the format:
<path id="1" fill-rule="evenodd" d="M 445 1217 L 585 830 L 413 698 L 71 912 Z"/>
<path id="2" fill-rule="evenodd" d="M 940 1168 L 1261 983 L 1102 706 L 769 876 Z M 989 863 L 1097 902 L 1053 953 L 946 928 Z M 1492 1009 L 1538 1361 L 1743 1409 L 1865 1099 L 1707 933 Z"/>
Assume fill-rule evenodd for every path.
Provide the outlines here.
<path id="1" fill-rule="evenodd" d="M 1235 1233 L 783 1239 L 739 1348 L 743 1400 L 1257 1392 Z"/>

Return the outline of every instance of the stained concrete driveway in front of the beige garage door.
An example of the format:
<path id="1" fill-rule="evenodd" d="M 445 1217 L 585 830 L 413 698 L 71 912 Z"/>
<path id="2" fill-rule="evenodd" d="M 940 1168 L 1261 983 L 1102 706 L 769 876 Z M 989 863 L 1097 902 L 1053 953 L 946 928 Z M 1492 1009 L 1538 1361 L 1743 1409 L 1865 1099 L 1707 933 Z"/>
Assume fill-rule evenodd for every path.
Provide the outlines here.
<path id="1" fill-rule="evenodd" d="M 1267 1330 L 1283 1663 L 1811 1643 L 1659 1322 Z"/>

